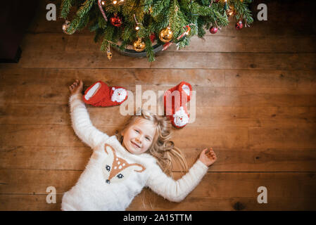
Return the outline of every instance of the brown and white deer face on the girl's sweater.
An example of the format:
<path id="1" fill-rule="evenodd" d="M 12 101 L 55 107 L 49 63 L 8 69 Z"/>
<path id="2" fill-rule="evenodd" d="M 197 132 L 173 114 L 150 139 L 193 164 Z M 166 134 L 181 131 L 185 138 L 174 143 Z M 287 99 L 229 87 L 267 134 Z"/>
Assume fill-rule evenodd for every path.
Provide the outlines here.
<path id="1" fill-rule="evenodd" d="M 129 164 L 126 160 L 119 158 L 115 150 L 105 145 L 105 152 L 108 155 L 102 164 L 103 177 L 107 184 L 113 184 L 127 179 L 132 172 L 143 172 L 146 168 L 138 163 Z"/>

